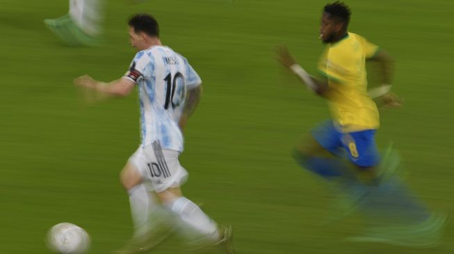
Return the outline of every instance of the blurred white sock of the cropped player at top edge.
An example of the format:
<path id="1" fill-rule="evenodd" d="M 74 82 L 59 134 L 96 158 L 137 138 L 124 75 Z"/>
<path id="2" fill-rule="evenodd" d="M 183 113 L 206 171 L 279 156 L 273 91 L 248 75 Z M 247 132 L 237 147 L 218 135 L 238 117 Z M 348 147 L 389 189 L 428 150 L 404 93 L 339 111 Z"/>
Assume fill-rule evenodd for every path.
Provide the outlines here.
<path id="1" fill-rule="evenodd" d="M 84 33 L 99 36 L 104 21 L 104 0 L 70 0 L 70 16 Z"/>

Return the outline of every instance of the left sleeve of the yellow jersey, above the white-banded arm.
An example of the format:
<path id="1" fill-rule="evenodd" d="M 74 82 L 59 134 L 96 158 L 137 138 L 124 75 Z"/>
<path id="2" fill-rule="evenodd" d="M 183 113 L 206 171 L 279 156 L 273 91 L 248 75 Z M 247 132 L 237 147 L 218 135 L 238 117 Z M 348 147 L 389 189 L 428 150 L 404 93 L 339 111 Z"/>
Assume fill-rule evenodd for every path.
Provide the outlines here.
<path id="1" fill-rule="evenodd" d="M 350 58 L 344 56 L 340 50 L 327 49 L 318 62 L 318 72 L 325 76 L 328 81 L 334 83 L 346 83 L 346 74 L 348 70 L 344 67 L 351 65 Z"/>

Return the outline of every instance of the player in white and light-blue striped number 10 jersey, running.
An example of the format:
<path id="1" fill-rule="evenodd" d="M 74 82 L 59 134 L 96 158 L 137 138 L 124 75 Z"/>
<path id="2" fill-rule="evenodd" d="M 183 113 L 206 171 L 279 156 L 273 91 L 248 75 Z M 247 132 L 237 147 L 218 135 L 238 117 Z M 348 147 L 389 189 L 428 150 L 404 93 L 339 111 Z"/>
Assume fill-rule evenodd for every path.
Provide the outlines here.
<path id="1" fill-rule="evenodd" d="M 145 251 L 159 243 L 163 234 L 149 234 L 153 225 L 150 228 L 147 221 L 159 214 L 156 208 L 177 217 L 201 239 L 233 253 L 232 228 L 218 229 L 180 189 L 188 176 L 178 161 L 183 151 L 182 131 L 200 99 L 202 81 L 186 58 L 161 44 L 158 23 L 150 15 L 139 14 L 129 20 L 129 37 L 138 53 L 122 78 L 110 83 L 90 76 L 74 80 L 76 85 L 107 96 L 126 96 L 138 87 L 141 144 L 120 173 L 129 193 L 134 244 L 122 253 Z M 159 201 L 147 191 L 156 194 Z"/>

